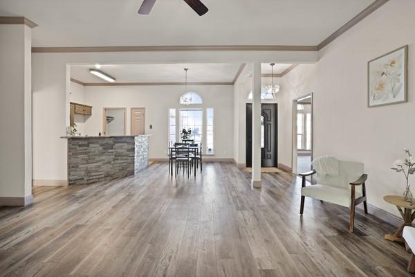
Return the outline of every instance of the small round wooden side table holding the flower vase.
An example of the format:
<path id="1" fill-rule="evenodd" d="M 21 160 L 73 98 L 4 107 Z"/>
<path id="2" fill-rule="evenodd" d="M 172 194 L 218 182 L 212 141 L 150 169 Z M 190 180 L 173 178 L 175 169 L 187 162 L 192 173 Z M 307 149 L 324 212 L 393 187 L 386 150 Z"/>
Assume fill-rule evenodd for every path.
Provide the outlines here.
<path id="1" fill-rule="evenodd" d="M 394 234 L 385 235 L 385 240 L 390 240 L 391 242 L 405 242 L 402 238 L 403 227 L 412 226 L 412 222 L 415 219 L 415 212 L 412 213 L 412 210 L 415 210 L 415 204 L 405 202 L 403 196 L 398 195 L 387 195 L 383 197 L 383 199 L 389 204 L 395 205 L 403 218 L 403 224 L 399 227 L 398 231 Z"/>

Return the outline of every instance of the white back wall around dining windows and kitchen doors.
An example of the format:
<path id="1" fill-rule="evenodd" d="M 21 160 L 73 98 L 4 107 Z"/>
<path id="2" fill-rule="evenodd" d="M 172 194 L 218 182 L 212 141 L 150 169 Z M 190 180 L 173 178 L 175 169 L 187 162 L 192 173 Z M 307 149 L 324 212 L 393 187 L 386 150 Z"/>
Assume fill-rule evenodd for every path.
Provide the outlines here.
<path id="1" fill-rule="evenodd" d="M 145 107 L 145 132 L 149 139 L 149 157 L 166 158 L 168 143 L 169 108 L 187 109 L 214 108 L 214 155 L 212 158 L 232 159 L 233 148 L 233 87 L 232 86 L 187 86 L 188 91 L 199 93 L 203 105 L 179 105 L 184 93 L 183 86 L 117 86 L 85 87 L 85 103 L 93 106 L 91 118 L 85 121 L 85 134 L 96 136 L 102 132 L 102 110 L 104 107 L 127 108 L 127 134 L 131 134 L 131 108 Z M 153 125 L 153 129 L 149 129 Z M 203 137 L 206 130 L 203 129 Z"/>

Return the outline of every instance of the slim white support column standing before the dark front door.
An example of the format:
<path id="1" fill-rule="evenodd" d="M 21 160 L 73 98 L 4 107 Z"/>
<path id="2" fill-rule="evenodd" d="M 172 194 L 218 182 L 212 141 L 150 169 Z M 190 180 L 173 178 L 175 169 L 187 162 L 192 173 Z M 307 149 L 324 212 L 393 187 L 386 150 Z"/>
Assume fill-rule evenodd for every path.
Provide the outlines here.
<path id="1" fill-rule="evenodd" d="M 261 188 L 261 63 L 252 74 L 252 179 L 251 188 Z"/>

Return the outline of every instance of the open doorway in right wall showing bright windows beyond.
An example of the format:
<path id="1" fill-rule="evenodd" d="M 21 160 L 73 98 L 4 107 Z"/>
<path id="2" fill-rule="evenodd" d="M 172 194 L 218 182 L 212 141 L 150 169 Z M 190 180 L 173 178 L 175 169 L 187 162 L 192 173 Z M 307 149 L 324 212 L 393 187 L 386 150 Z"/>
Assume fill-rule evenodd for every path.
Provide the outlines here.
<path id="1" fill-rule="evenodd" d="M 293 172 L 311 170 L 313 159 L 313 94 L 293 102 Z"/>

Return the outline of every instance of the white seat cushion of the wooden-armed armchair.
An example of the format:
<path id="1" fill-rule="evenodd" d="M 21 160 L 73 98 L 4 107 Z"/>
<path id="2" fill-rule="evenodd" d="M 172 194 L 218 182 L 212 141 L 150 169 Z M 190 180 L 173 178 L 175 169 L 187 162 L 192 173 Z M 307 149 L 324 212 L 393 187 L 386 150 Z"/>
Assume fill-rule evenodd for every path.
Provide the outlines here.
<path id="1" fill-rule="evenodd" d="M 351 188 L 340 188 L 337 186 L 317 184 L 301 188 L 301 195 L 345 207 L 349 207 L 351 204 Z M 362 189 L 356 187 L 356 198 L 361 196 Z"/>

